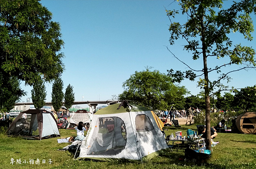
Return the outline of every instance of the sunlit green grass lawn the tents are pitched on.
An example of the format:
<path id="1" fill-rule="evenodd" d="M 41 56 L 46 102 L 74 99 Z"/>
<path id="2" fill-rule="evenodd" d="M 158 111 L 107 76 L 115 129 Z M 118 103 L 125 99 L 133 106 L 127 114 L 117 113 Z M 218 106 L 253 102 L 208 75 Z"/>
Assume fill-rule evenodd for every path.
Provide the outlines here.
<path id="1" fill-rule="evenodd" d="M 170 135 L 182 131 L 184 135 L 189 128 L 196 130 L 195 125 L 181 125 L 180 128 L 166 127 L 165 132 Z M 61 138 L 70 136 L 76 136 L 76 130 L 61 129 Z M 215 141 L 220 143 L 212 147 L 212 156 L 207 163 L 183 160 L 185 147 L 180 144 L 176 144 L 173 151 L 145 163 L 73 160 L 70 152 L 57 150 L 70 144 L 58 144 L 58 138 L 38 141 L 0 134 L 0 169 L 256 169 L 256 135 L 218 133 Z M 19 159 L 20 164 L 17 164 Z M 29 164 L 29 159 L 33 159 L 34 164 Z M 40 164 L 35 164 L 37 159 Z"/>

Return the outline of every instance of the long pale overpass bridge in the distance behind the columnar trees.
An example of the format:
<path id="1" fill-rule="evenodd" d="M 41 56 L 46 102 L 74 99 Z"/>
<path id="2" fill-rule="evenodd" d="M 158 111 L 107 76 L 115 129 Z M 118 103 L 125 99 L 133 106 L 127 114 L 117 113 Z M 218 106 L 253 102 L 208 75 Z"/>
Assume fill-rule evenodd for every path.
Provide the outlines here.
<path id="1" fill-rule="evenodd" d="M 93 109 L 96 109 L 96 106 L 98 104 L 116 104 L 118 103 L 118 100 L 106 100 L 106 101 L 74 101 L 74 103 L 72 105 L 79 105 L 79 104 L 88 104 L 88 106 L 90 107 L 90 112 L 92 113 Z M 65 105 L 65 102 L 62 102 L 63 106 Z M 18 102 L 15 103 L 15 106 L 24 106 L 26 107 L 26 105 L 34 105 L 33 102 Z M 45 102 L 45 106 L 52 106 L 52 102 Z"/>

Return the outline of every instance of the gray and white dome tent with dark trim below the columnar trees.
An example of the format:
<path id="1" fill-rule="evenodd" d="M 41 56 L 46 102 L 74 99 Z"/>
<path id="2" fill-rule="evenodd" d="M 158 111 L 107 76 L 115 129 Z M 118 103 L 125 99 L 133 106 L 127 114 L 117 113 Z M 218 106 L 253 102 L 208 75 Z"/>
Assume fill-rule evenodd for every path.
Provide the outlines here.
<path id="1" fill-rule="evenodd" d="M 49 135 L 60 136 L 56 119 L 51 112 L 44 109 L 29 109 L 21 112 L 12 122 L 6 134 L 39 140 Z"/>

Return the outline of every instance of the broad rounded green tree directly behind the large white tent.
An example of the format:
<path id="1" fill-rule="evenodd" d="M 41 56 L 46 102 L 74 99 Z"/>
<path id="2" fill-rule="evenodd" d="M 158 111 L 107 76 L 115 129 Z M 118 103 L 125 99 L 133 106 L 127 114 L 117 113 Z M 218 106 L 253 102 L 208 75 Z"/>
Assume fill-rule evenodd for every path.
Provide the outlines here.
<path id="1" fill-rule="evenodd" d="M 183 96 L 187 93 L 185 87 L 175 86 L 166 74 L 158 70 L 150 71 L 149 68 L 136 71 L 123 83 L 123 88 L 119 99 L 136 101 L 153 110 L 169 109 L 172 104 L 178 109 L 183 108 Z"/>

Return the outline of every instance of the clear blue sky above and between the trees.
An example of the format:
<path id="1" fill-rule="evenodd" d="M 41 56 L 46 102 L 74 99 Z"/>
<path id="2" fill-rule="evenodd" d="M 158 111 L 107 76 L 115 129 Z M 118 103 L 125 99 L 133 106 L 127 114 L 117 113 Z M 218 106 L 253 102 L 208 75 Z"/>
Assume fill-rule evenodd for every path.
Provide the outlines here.
<path id="1" fill-rule="evenodd" d="M 167 69 L 188 70 L 177 61 L 166 46 L 194 69 L 203 68 L 202 58 L 192 60 L 192 53 L 183 51 L 182 39 L 169 45 L 167 9 L 178 9 L 172 0 L 41 0 L 52 12 L 53 21 L 60 23 L 65 55 L 65 71 L 61 77 L 64 89 L 72 85 L 76 101 L 108 100 L 123 92 L 122 83 L 135 71 L 153 67 L 167 73 Z M 230 1 L 231 2 L 231 1 Z M 178 16 L 177 20 L 186 17 Z M 255 22 L 255 16 L 253 17 Z M 253 37 L 256 34 L 253 33 Z M 254 46 L 239 34 L 231 35 L 234 42 Z M 244 42 L 244 43 L 243 43 Z M 235 44 L 235 43 L 234 43 Z M 209 66 L 227 63 L 227 59 L 208 58 Z M 238 67 L 237 67 L 238 68 Z M 232 68 L 227 68 L 232 70 Z M 237 88 L 256 85 L 255 70 L 233 73 L 229 86 Z M 215 73 L 209 78 L 216 78 Z M 200 92 L 197 80 L 183 81 L 193 95 Z M 32 87 L 22 88 L 31 97 Z M 51 101 L 52 84 L 47 83 L 47 100 Z M 82 98 L 84 97 L 84 98 Z"/>

